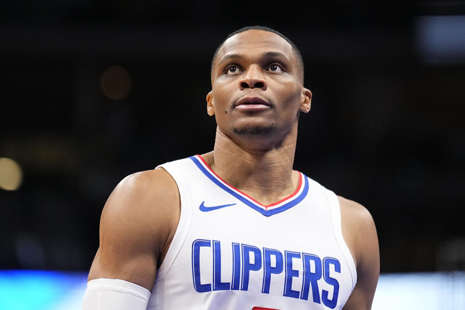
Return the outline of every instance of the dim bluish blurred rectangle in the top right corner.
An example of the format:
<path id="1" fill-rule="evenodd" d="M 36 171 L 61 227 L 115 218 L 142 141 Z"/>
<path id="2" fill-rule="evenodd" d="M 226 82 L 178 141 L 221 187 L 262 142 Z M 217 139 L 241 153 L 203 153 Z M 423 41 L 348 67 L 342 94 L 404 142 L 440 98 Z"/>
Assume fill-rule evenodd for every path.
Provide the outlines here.
<path id="1" fill-rule="evenodd" d="M 418 17 L 416 37 L 425 62 L 465 63 L 465 16 Z"/>

